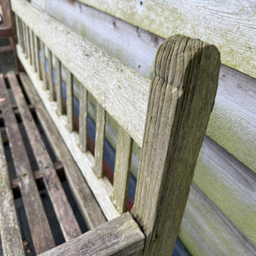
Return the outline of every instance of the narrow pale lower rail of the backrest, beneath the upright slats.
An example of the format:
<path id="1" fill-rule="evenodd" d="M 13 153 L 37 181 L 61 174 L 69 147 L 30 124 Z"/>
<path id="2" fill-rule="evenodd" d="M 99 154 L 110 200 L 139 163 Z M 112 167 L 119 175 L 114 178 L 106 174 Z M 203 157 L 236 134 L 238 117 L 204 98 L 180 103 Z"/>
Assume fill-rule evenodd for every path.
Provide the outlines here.
<path id="1" fill-rule="evenodd" d="M 17 47 L 17 53 L 20 58 L 20 61 L 23 67 L 26 70 L 26 73 L 32 80 L 32 84 L 35 89 L 38 91 L 42 102 L 44 103 L 45 108 L 47 109 L 51 119 L 55 120 L 55 126 L 58 131 L 61 133 L 61 137 L 67 145 L 67 148 L 70 150 L 73 155 L 73 159 L 76 161 L 81 172 L 83 173 L 86 182 L 89 184 L 90 189 L 93 191 L 96 200 L 98 201 L 102 212 L 105 217 L 109 220 L 119 216 L 119 212 L 113 207 L 113 203 L 108 196 L 108 192 L 104 191 L 105 183 L 102 179 L 97 179 L 92 168 L 94 166 L 94 159 L 90 152 L 82 153 L 79 149 L 79 135 L 76 132 L 70 133 L 67 131 L 67 117 L 60 116 L 57 113 L 57 104 L 56 102 L 49 101 L 49 91 L 43 89 L 43 81 L 38 80 L 36 73 L 33 73 L 32 66 L 29 62 L 26 61 L 25 55 L 21 53 L 20 46 Z"/>

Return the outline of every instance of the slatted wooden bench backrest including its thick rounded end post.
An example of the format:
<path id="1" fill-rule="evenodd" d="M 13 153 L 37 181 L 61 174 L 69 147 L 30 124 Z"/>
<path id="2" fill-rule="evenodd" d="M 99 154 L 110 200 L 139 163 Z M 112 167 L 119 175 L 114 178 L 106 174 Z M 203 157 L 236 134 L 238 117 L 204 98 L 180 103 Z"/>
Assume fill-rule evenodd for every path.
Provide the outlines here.
<path id="1" fill-rule="evenodd" d="M 12 9 L 20 61 L 108 220 L 126 211 L 132 142 L 142 147 L 131 213 L 146 236 L 144 253 L 167 254 L 177 237 L 213 108 L 218 49 L 199 39 L 168 38 L 156 54 L 149 86 L 149 79 L 25 0 L 13 0 Z M 61 67 L 66 67 L 66 100 Z M 79 131 L 74 122 L 74 79 L 79 81 Z M 94 157 L 86 150 L 88 91 L 96 99 Z M 112 185 L 103 173 L 106 113 L 119 125 L 112 198 L 106 189 Z"/>

